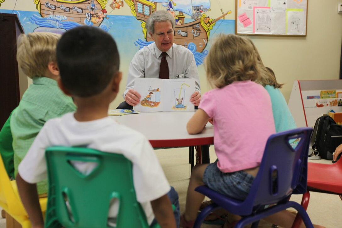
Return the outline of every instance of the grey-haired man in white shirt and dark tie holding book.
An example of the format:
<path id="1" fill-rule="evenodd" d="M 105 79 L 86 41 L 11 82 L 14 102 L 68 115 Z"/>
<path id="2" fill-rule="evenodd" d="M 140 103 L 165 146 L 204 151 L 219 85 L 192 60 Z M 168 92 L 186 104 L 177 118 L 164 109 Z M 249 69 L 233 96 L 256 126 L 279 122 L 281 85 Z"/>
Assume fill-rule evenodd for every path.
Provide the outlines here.
<path id="1" fill-rule="evenodd" d="M 190 102 L 195 106 L 201 100 L 200 82 L 194 54 L 173 43 L 175 21 L 165 10 L 155 11 L 146 22 L 148 35 L 155 41 L 139 50 L 129 66 L 124 102 L 117 109 L 131 109 L 141 100 L 134 90 L 135 78 L 194 78 L 195 92 Z"/>

